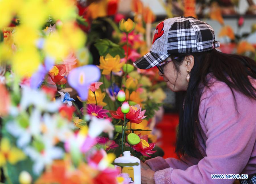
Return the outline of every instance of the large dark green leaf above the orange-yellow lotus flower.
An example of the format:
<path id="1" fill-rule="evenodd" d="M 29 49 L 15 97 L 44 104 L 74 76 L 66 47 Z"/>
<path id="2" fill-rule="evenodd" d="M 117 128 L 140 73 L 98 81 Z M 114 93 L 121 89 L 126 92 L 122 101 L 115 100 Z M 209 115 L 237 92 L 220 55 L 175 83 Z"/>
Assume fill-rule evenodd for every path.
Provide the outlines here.
<path id="1" fill-rule="evenodd" d="M 105 57 L 107 54 L 110 54 L 113 57 L 116 55 L 119 55 L 120 58 L 125 57 L 124 49 L 109 39 L 99 39 L 94 46 L 97 48 L 101 56 Z"/>

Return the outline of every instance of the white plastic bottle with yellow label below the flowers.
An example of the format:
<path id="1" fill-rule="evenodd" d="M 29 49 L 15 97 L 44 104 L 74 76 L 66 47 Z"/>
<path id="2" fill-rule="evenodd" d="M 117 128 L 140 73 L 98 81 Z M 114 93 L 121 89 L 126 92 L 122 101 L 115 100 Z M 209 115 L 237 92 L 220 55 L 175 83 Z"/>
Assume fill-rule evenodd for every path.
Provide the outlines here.
<path id="1" fill-rule="evenodd" d="M 131 156 L 130 151 L 124 151 L 124 156 L 118 157 L 114 161 L 115 163 L 129 164 L 129 163 L 138 163 L 139 165 L 134 166 L 124 166 L 122 168 L 122 173 L 129 174 L 130 183 L 141 184 L 141 175 L 140 175 L 140 159 L 135 156 Z M 117 169 L 121 170 L 120 166 L 115 165 Z"/>

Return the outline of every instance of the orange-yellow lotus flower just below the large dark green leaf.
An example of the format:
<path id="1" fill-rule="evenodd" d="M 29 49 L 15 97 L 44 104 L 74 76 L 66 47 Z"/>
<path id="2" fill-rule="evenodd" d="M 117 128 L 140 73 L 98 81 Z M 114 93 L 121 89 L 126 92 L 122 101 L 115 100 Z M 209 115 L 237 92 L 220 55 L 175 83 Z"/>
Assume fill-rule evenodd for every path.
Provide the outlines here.
<path id="1" fill-rule="evenodd" d="M 120 63 L 120 56 L 116 55 L 115 57 L 107 54 L 105 59 L 103 56 L 100 57 L 100 65 L 98 66 L 100 69 L 103 69 L 102 74 L 108 75 L 111 71 L 119 72 L 124 65 L 124 62 Z"/>

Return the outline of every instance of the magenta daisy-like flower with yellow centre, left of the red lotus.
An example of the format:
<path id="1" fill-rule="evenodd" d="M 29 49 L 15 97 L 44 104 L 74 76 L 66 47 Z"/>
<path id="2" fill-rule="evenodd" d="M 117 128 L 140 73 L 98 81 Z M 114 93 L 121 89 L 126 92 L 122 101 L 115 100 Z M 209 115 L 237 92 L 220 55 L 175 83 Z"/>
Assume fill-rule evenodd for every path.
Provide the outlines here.
<path id="1" fill-rule="evenodd" d="M 82 107 L 80 109 L 80 111 L 82 112 L 83 115 L 89 114 L 89 115 L 93 115 L 93 116 L 96 116 L 97 118 L 101 118 L 101 119 L 103 119 L 104 117 L 107 118 L 108 115 L 106 113 L 109 112 L 108 110 L 103 109 L 103 107 L 101 105 L 95 105 L 93 103 L 87 104 L 86 110 L 84 107 Z"/>

